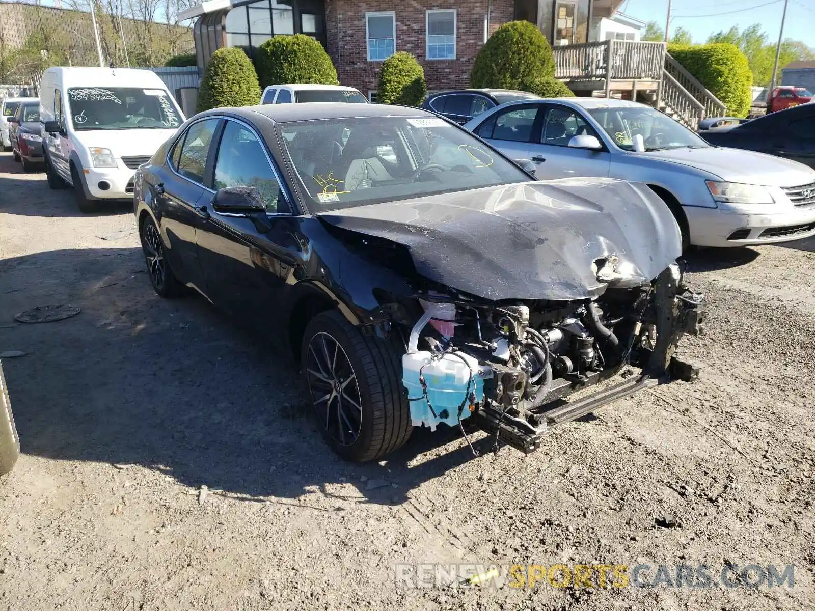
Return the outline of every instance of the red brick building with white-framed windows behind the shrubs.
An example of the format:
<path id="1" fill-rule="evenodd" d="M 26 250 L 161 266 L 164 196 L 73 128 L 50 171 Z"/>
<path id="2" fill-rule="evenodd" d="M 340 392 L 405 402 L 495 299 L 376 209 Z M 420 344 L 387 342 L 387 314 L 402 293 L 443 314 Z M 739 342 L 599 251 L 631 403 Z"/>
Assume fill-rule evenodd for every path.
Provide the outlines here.
<path id="1" fill-rule="evenodd" d="M 475 55 L 501 24 L 529 20 L 554 45 L 597 40 L 601 20 L 622 0 L 206 0 L 179 15 L 196 18 L 198 67 L 215 49 L 252 57 L 272 36 L 305 33 L 321 42 L 340 82 L 371 95 L 382 61 L 408 51 L 428 89 L 469 86 Z"/>

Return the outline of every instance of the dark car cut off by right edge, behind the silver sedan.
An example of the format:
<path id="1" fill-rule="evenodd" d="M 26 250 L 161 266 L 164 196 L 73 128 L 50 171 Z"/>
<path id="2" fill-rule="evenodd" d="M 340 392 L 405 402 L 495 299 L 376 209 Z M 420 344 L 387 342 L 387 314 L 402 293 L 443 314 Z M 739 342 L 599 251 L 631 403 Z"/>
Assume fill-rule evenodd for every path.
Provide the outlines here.
<path id="1" fill-rule="evenodd" d="M 786 108 L 700 135 L 716 146 L 769 153 L 815 169 L 815 104 Z"/>

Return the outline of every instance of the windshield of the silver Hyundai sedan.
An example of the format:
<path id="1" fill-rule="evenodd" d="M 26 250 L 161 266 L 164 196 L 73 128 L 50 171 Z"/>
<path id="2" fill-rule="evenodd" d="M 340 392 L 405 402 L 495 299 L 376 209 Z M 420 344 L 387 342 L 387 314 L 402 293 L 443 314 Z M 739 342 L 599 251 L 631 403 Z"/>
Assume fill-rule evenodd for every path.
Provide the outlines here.
<path id="1" fill-rule="evenodd" d="M 646 151 L 675 148 L 707 148 L 709 145 L 670 116 L 648 107 L 587 108 L 609 138 L 623 149 L 633 151 L 632 138 L 640 134 Z"/>

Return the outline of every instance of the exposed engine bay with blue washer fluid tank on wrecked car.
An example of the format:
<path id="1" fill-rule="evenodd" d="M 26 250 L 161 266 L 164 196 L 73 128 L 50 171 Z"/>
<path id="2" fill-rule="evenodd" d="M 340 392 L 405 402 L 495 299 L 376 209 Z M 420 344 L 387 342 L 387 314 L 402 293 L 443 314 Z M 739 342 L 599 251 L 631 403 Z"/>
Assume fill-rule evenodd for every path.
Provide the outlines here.
<path id="1" fill-rule="evenodd" d="M 412 424 L 469 420 L 525 453 L 557 424 L 698 369 L 674 358 L 685 333 L 702 332 L 700 294 L 680 266 L 628 286 L 615 261 L 596 262 L 609 284 L 599 297 L 571 301 L 485 301 L 455 289 L 419 294 L 424 314 L 412 327 L 403 382 Z M 617 385 L 576 402 L 564 399 L 612 376 Z M 466 433 L 465 433 L 466 437 Z M 469 441 L 469 439 L 468 439 Z"/>

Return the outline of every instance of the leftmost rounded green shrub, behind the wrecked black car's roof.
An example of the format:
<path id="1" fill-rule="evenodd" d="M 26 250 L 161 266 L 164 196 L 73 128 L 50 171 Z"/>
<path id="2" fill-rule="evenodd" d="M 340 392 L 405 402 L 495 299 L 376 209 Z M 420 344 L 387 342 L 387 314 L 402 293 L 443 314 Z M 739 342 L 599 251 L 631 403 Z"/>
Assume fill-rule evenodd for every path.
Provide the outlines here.
<path id="1" fill-rule="evenodd" d="M 198 91 L 198 112 L 223 106 L 252 106 L 260 102 L 258 75 L 237 47 L 218 49 L 209 59 Z"/>

